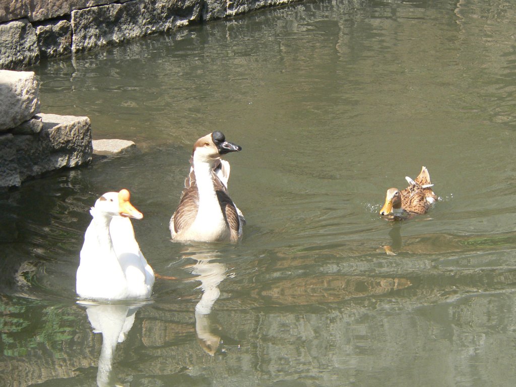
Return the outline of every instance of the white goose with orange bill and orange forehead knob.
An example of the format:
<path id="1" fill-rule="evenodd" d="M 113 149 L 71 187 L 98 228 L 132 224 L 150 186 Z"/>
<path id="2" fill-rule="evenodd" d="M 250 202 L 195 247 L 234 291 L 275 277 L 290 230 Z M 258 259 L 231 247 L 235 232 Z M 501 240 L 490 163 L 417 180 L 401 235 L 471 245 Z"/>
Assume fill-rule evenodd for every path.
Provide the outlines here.
<path id="1" fill-rule="evenodd" d="M 76 292 L 82 298 L 146 298 L 154 272 L 140 251 L 129 218 L 141 219 L 126 189 L 104 193 L 91 207 L 77 269 Z"/>

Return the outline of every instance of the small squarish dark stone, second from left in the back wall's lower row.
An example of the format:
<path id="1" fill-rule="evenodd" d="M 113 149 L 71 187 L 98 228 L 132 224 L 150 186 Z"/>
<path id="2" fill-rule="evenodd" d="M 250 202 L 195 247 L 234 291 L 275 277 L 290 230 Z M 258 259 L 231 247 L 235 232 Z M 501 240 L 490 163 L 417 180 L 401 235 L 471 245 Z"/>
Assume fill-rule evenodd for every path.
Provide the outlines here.
<path id="1" fill-rule="evenodd" d="M 36 35 L 42 58 L 55 58 L 72 53 L 72 25 L 67 20 L 40 25 L 36 28 Z"/>

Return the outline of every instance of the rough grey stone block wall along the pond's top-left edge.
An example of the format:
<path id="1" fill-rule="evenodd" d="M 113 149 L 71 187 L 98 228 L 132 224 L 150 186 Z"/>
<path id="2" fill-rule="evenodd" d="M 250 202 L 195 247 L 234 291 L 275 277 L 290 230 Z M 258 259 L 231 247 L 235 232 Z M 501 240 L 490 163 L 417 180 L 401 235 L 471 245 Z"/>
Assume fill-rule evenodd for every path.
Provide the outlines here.
<path id="1" fill-rule="evenodd" d="M 0 0 L 0 69 L 299 0 Z"/>

